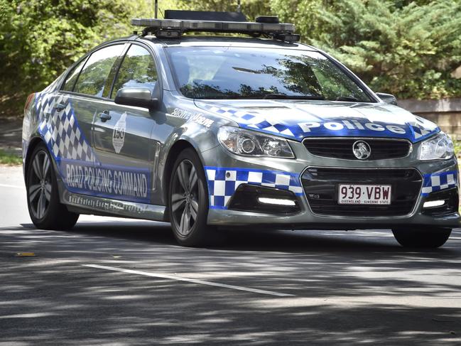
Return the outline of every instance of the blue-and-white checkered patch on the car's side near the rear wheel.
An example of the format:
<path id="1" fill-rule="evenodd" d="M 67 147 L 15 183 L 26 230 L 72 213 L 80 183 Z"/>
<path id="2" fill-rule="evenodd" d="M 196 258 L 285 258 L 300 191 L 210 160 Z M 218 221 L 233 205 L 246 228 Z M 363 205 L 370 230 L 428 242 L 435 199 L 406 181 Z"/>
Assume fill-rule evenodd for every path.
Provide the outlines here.
<path id="1" fill-rule="evenodd" d="M 58 112 L 55 104 L 63 104 L 65 109 Z M 55 95 L 47 88 L 37 95 L 35 107 L 38 131 L 55 158 L 94 161 L 92 147 L 80 131 L 69 97 Z"/>

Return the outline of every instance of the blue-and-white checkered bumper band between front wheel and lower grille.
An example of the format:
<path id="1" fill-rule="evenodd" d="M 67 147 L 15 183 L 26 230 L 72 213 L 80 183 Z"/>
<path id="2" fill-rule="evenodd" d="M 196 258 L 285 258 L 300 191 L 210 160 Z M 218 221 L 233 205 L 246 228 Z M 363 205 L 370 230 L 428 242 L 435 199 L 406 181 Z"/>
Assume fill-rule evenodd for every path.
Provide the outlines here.
<path id="1" fill-rule="evenodd" d="M 281 171 L 263 171 L 249 168 L 205 167 L 210 193 L 211 209 L 227 209 L 235 190 L 241 184 L 252 184 L 290 190 L 303 195 L 299 175 Z"/>

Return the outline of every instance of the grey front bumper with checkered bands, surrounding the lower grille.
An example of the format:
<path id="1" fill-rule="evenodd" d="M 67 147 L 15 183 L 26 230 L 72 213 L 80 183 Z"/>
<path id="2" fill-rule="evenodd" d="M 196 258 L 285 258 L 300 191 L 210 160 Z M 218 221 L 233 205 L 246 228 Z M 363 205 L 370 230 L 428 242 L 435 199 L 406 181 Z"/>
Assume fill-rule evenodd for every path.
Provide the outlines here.
<path id="1" fill-rule="evenodd" d="M 417 146 L 417 145 L 416 145 Z M 246 158 L 229 153 L 221 146 L 210 149 L 202 153 L 202 159 L 205 161 L 205 170 L 207 167 L 214 167 L 221 171 L 222 182 L 217 184 L 215 180 L 209 179 L 210 190 L 210 210 L 208 212 L 208 224 L 215 226 L 261 226 L 264 228 L 271 227 L 277 229 L 369 229 L 369 228 L 398 228 L 398 227 L 460 227 L 460 214 L 456 212 L 442 213 L 443 215 L 427 215 L 423 210 L 423 204 L 430 199 L 431 193 L 438 190 L 451 189 L 457 193 L 457 161 L 452 158 L 446 161 L 418 161 L 416 155 L 406 158 L 379 161 L 350 161 L 337 158 L 319 158 L 311 156 L 305 151 L 302 144 L 291 143 L 295 152 L 295 159 L 283 158 Z M 417 151 L 417 150 L 416 150 Z M 414 151 L 413 151 L 414 153 Z M 218 167 L 218 168 L 216 168 Z M 413 169 L 421 177 L 421 185 L 415 191 L 414 202 L 411 209 L 405 215 L 386 214 L 383 216 L 373 215 L 364 212 L 363 215 L 335 215 L 334 209 L 327 212 L 327 215 L 321 215 L 313 212 L 313 208 L 308 202 L 301 176 L 309 167 L 316 168 L 341 168 L 347 171 L 358 170 L 376 170 L 383 172 L 381 183 L 386 180 L 386 171 L 397 169 Z M 234 173 L 237 171 L 237 174 Z M 262 174 L 262 180 L 259 185 L 269 186 L 271 188 L 286 188 L 291 190 L 297 199 L 299 211 L 291 214 L 278 212 L 254 212 L 249 210 L 231 210 L 229 202 L 232 201 L 232 195 L 237 181 L 239 183 L 249 183 L 254 180 L 239 181 L 239 171 L 256 172 Z M 272 181 L 264 180 L 264 172 L 270 172 L 273 175 Z M 290 179 L 280 179 L 276 174 L 287 174 Z M 255 174 L 256 174 L 255 173 Z M 450 184 L 446 181 L 440 181 L 440 177 L 450 173 L 450 178 L 455 178 Z M 215 173 L 213 173 L 215 174 Z M 217 173 L 216 173 L 217 174 Z M 451 176 L 452 174 L 452 176 Z M 248 175 L 244 175 L 248 177 Z M 261 176 L 261 175 L 260 175 Z M 383 178 L 384 177 L 384 178 Z M 435 177 L 435 178 L 431 178 Z M 438 178 L 439 177 L 439 178 Z M 207 178 L 210 178 L 207 176 Z M 217 179 L 216 177 L 212 177 Z M 295 179 L 298 179 L 295 182 Z M 443 179 L 442 179 L 443 180 Z M 433 182 L 439 182 L 439 185 L 430 185 Z M 349 181 L 349 183 L 363 183 L 363 181 Z M 282 185 L 281 185 L 282 184 Z M 220 188 L 216 188 L 217 186 Z M 234 188 L 232 188 L 234 187 Z M 221 192 L 219 192 L 221 190 Z M 217 205 L 217 201 L 221 203 Z"/>

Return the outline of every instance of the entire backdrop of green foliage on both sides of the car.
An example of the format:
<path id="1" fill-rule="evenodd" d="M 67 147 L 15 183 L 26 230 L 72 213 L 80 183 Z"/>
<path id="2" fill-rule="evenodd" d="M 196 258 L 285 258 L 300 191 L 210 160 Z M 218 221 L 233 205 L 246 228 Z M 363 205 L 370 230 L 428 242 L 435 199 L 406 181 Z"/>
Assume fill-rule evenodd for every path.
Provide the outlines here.
<path id="1" fill-rule="evenodd" d="M 234 10 L 237 1 L 160 0 L 162 10 Z M 131 32 L 153 0 L 0 0 L 0 114 L 14 111 L 94 45 Z M 242 0 L 249 19 L 277 14 L 374 90 L 461 96 L 459 0 Z"/>

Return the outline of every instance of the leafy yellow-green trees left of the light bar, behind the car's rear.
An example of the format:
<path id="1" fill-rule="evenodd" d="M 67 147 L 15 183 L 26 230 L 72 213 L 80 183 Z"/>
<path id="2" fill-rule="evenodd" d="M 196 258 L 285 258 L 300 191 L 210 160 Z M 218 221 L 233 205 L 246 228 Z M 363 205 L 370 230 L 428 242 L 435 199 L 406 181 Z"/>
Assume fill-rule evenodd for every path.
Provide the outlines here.
<path id="1" fill-rule="evenodd" d="M 133 28 L 147 1 L 0 0 L 0 112 L 20 112 L 22 99 L 48 85 L 94 45 Z M 22 100 L 22 101 L 21 101 Z"/>

